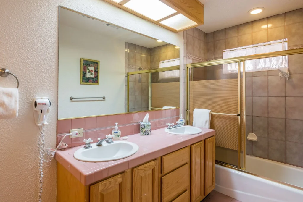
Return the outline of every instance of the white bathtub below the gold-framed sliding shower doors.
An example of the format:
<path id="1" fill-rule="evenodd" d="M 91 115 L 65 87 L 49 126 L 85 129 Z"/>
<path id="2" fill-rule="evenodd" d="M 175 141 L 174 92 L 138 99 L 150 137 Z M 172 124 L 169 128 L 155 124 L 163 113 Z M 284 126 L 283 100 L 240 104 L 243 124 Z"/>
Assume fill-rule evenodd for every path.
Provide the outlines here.
<path id="1" fill-rule="evenodd" d="M 258 175 L 264 176 L 271 174 L 271 178 L 288 179 L 288 183 L 296 183 L 298 186 L 302 181 L 302 170 L 294 166 L 288 166 L 277 162 L 268 161 L 258 157 L 246 157 L 246 170 L 260 172 Z M 279 165 L 275 165 L 277 163 Z M 281 165 L 280 165 L 281 164 Z M 248 168 L 248 166 L 251 166 Z M 280 167 L 278 167 L 280 166 Z M 264 168 L 264 169 L 263 169 Z M 266 170 L 268 169 L 268 170 Z M 301 173 L 299 172 L 301 170 Z M 254 171 L 254 172 L 255 172 Z M 261 172 L 264 172 L 262 174 Z M 266 172 L 265 172 L 266 171 Z M 287 172 L 287 175 L 281 177 L 281 173 Z M 294 173 L 293 173 L 294 172 Z M 299 176 L 297 174 L 300 174 Z M 278 176 L 276 176 L 278 175 Z M 268 175 L 269 176 L 269 175 Z M 265 176 L 265 177 L 268 177 Z M 284 180 L 285 181 L 285 180 Z M 215 190 L 233 197 L 242 202 L 302 202 L 303 190 L 289 187 L 275 181 L 267 180 L 245 172 L 237 171 L 231 168 L 216 164 L 216 186 Z"/>

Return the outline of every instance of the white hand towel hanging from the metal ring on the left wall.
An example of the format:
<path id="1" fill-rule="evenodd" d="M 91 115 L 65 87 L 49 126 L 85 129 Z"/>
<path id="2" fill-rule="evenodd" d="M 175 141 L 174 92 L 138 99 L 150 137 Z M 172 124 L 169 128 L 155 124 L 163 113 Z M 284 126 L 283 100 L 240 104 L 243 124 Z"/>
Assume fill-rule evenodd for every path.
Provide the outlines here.
<path id="1" fill-rule="evenodd" d="M 19 108 L 18 88 L 0 87 L 0 119 L 16 118 Z"/>

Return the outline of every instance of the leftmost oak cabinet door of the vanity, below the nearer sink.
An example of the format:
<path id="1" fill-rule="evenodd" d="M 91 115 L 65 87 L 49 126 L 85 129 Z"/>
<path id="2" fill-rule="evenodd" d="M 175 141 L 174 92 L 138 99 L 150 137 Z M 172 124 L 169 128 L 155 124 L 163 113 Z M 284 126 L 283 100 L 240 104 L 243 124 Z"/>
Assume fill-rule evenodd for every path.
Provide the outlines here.
<path id="1" fill-rule="evenodd" d="M 131 202 L 132 172 L 127 170 L 90 187 L 91 202 Z"/>

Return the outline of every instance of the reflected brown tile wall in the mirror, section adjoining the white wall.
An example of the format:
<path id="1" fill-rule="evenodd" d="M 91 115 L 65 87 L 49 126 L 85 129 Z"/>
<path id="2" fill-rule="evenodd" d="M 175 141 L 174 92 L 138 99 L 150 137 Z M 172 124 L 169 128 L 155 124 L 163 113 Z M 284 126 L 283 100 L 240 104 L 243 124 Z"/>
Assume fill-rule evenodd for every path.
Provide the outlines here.
<path id="1" fill-rule="evenodd" d="M 125 73 L 150 69 L 150 48 L 125 43 Z M 148 110 L 148 74 L 129 76 L 129 111 Z M 125 76 L 125 112 L 127 112 L 127 75 Z"/>

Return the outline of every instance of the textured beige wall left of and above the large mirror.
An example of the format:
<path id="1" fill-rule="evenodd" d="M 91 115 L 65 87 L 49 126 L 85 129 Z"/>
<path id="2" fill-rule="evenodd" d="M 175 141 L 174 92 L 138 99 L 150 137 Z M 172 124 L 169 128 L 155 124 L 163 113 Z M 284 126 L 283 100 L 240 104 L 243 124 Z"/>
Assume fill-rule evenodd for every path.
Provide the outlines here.
<path id="1" fill-rule="evenodd" d="M 183 47 L 182 33 L 175 34 L 100 0 L 2 0 L 0 64 L 17 75 L 20 98 L 18 118 L 0 120 L 1 202 L 33 202 L 38 196 L 38 127 L 32 106 L 36 96 L 52 101 L 45 143 L 46 147 L 56 145 L 59 5 Z M 1 87 L 15 84 L 11 76 L 0 79 Z M 44 163 L 44 176 L 42 199 L 54 202 L 55 161 Z"/>

